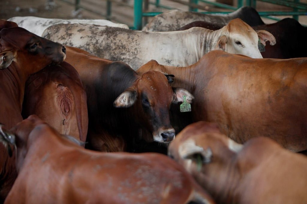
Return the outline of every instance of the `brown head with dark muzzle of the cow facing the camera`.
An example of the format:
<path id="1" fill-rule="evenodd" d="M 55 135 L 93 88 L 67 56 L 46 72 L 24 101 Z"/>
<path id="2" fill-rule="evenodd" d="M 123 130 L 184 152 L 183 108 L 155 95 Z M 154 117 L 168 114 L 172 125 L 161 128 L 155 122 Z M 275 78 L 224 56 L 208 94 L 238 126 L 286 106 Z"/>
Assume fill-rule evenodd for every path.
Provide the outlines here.
<path id="1" fill-rule="evenodd" d="M 169 119 L 171 103 L 183 102 L 183 95 L 187 96 L 187 102 L 193 99 L 185 89 L 172 88 L 169 84 L 172 81 L 173 75 L 159 71 L 145 72 L 116 98 L 114 106 L 133 106 L 137 122 L 152 133 L 153 140 L 168 143 L 175 137 Z"/>

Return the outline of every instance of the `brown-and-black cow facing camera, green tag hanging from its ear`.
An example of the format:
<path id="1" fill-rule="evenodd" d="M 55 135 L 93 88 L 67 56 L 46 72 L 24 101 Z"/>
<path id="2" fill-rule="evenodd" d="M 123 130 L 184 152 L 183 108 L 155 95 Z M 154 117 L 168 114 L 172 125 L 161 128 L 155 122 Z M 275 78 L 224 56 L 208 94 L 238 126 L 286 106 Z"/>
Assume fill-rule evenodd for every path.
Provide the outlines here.
<path id="1" fill-rule="evenodd" d="M 91 148 L 134 152 L 142 151 L 136 150 L 143 146 L 138 144 L 139 135 L 147 142 L 168 144 L 174 139 L 170 105 L 182 102 L 183 95 L 191 102 L 193 96 L 173 88 L 169 84 L 172 76 L 156 71 L 138 75 L 123 62 L 101 59 L 73 47 L 67 47 L 65 61 L 79 72 L 87 92 Z"/>

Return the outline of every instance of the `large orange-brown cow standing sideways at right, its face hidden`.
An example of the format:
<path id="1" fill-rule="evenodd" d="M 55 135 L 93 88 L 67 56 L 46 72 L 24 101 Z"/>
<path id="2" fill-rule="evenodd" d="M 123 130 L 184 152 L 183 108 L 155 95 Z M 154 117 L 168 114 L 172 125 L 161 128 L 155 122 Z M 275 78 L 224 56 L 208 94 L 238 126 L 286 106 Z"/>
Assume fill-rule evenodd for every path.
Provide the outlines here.
<path id="1" fill-rule="evenodd" d="M 172 85 L 195 97 L 187 123 L 216 122 L 238 143 L 266 136 L 289 150 L 307 150 L 306 58 L 252 59 L 215 50 L 188 67 L 150 61 L 138 73 L 149 70 L 175 75 Z"/>

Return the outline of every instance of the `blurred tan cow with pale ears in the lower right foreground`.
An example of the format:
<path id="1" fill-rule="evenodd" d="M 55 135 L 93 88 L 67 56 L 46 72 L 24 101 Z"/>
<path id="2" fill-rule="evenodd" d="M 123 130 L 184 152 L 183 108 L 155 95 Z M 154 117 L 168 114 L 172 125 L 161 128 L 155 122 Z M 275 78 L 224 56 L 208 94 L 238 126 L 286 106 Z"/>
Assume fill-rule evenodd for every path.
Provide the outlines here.
<path id="1" fill-rule="evenodd" d="M 217 203 L 307 203 L 306 156 L 285 150 L 267 137 L 241 145 L 216 125 L 200 121 L 177 135 L 168 154 Z"/>

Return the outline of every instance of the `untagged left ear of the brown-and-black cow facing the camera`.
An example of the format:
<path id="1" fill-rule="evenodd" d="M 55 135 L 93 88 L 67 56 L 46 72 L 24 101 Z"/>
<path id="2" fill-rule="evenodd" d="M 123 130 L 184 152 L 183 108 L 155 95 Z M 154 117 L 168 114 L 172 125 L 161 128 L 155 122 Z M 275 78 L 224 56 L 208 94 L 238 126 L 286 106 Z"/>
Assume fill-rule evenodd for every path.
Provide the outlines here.
<path id="1" fill-rule="evenodd" d="M 134 104 L 137 99 L 137 91 L 136 90 L 127 90 L 122 92 L 119 97 L 117 97 L 113 103 L 116 108 L 128 108 Z"/>

